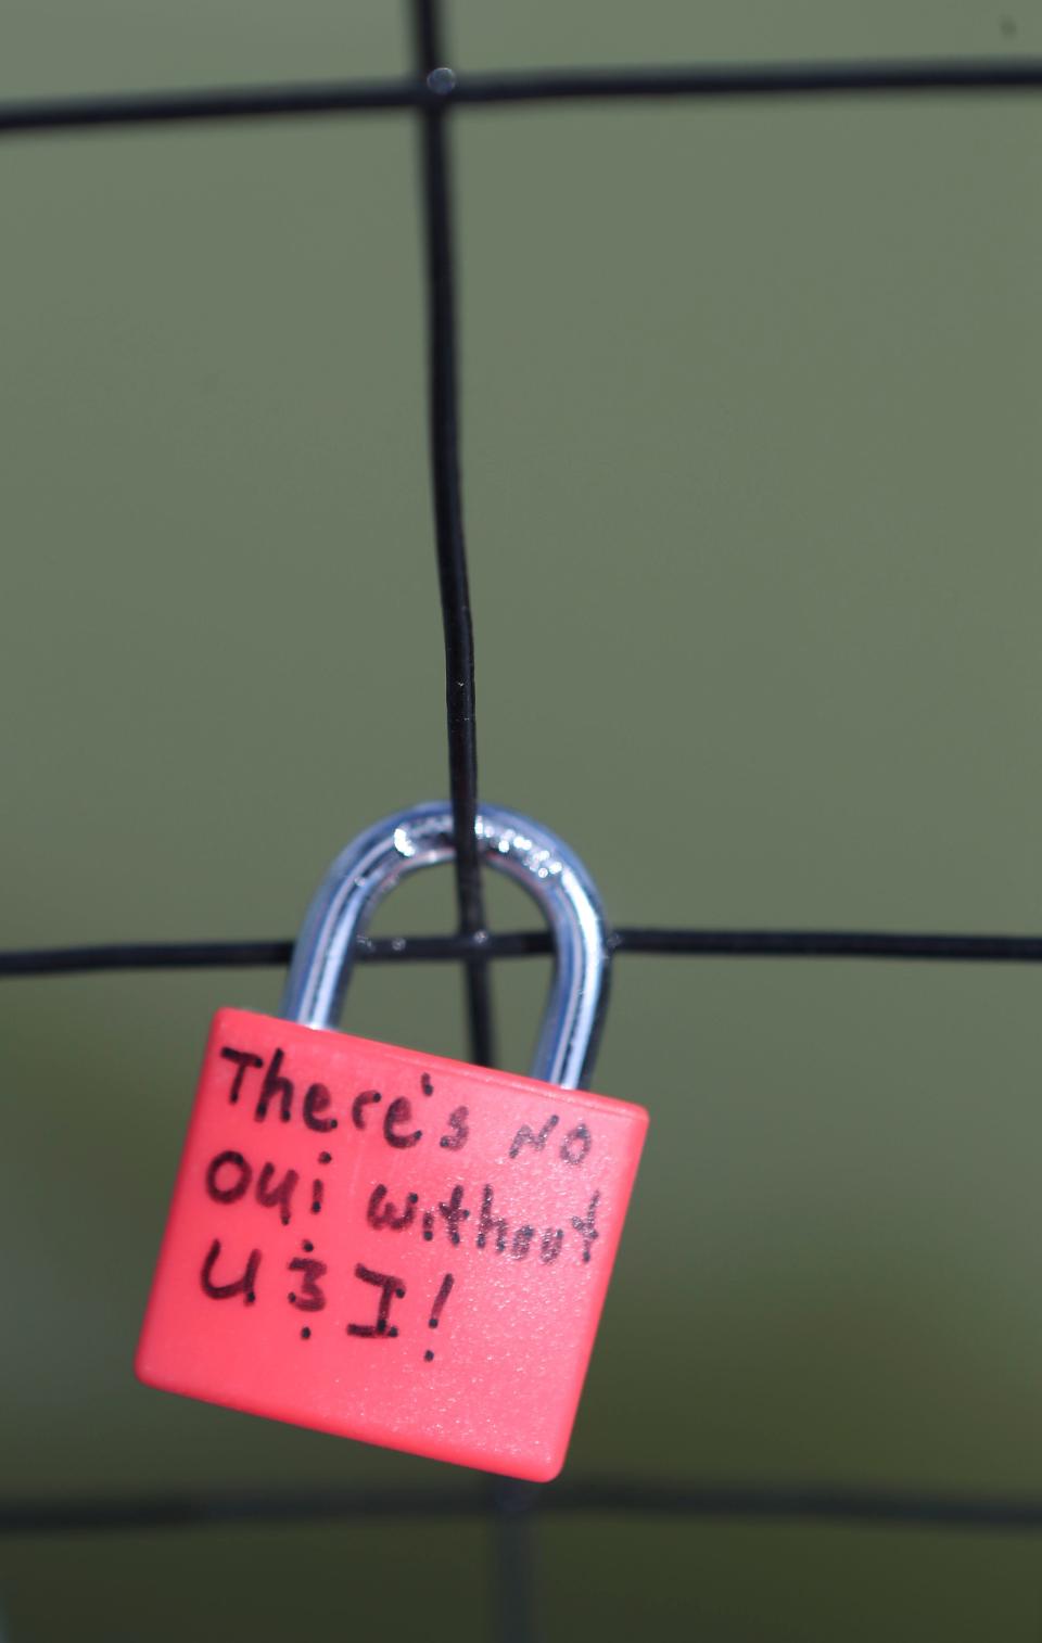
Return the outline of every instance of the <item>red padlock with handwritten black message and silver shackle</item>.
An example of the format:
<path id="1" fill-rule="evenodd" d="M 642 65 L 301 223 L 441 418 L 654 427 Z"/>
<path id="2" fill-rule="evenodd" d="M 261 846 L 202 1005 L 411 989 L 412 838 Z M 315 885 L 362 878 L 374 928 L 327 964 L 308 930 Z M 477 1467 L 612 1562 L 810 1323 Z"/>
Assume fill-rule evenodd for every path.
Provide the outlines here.
<path id="1" fill-rule="evenodd" d="M 337 1030 L 376 902 L 454 854 L 447 805 L 337 858 L 281 1015 L 214 1017 L 136 1354 L 151 1387 L 546 1482 L 564 1464 L 648 1114 L 579 1093 L 608 979 L 583 866 L 483 807 L 554 940 L 533 1076 Z"/>

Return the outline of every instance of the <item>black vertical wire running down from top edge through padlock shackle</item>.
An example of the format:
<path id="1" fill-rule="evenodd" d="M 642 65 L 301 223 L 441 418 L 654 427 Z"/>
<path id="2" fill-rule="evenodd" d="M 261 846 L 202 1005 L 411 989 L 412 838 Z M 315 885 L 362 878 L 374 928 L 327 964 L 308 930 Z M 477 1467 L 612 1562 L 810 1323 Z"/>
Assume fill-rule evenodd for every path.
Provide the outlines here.
<path id="1" fill-rule="evenodd" d="M 437 0 L 413 0 L 414 51 L 426 77 L 444 64 Z M 485 933 L 482 866 L 475 838 L 478 748 L 473 682 L 473 626 L 467 582 L 459 458 L 459 378 L 452 197 L 445 151 L 447 104 L 421 110 L 424 250 L 427 266 L 427 348 L 431 391 L 431 481 L 437 578 L 445 634 L 449 795 L 455 833 L 455 902 L 460 935 Z M 483 953 L 467 960 L 467 1015 L 472 1060 L 495 1061 L 491 984 Z"/>

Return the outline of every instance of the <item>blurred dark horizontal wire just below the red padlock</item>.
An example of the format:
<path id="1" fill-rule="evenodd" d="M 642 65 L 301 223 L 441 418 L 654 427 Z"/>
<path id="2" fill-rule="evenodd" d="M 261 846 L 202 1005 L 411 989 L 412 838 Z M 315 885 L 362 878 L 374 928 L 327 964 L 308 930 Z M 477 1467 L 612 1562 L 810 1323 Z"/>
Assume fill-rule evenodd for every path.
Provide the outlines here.
<path id="1" fill-rule="evenodd" d="M 894 1528 L 1035 1531 L 1042 1498 L 843 1484 L 700 1484 L 588 1479 L 490 1489 L 250 1489 L 243 1492 L 0 1502 L 0 1535 L 69 1535 L 312 1523 L 345 1518 L 480 1518 L 513 1513 L 656 1513 L 715 1520 L 804 1520 Z"/>

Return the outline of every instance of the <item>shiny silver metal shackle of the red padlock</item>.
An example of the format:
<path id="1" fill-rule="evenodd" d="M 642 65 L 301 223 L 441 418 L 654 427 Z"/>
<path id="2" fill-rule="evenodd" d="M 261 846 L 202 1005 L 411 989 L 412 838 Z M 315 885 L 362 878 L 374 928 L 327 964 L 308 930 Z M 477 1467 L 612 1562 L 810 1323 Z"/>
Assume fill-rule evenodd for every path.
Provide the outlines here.
<path id="1" fill-rule="evenodd" d="M 554 938 L 554 979 L 531 1076 L 582 1088 L 597 1050 L 608 992 L 610 943 L 597 887 L 556 833 L 496 805 L 482 805 L 475 835 L 483 863 L 537 902 Z M 376 904 L 409 872 L 455 856 L 452 808 L 414 805 L 376 822 L 343 849 L 307 909 L 293 950 L 279 1015 L 335 1029 L 355 943 Z"/>

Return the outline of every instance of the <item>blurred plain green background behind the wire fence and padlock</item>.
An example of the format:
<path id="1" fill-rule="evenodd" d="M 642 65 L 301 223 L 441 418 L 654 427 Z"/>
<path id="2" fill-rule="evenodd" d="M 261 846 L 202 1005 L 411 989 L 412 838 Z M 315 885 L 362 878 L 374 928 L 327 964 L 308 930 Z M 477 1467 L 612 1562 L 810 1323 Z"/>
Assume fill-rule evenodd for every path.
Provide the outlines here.
<path id="1" fill-rule="evenodd" d="M 404 25 L 7 0 L 0 94 L 396 74 Z M 449 25 L 462 71 L 1042 53 L 968 0 Z M 616 923 L 1039 928 L 1040 118 L 454 122 L 482 785 Z M 291 935 L 447 785 L 414 120 L 8 141 L 0 199 L 3 943 Z M 380 928 L 450 917 L 445 872 Z M 546 976 L 496 971 L 506 1065 Z M 595 1086 L 652 1125 L 569 1477 L 1042 1489 L 1037 987 L 620 960 Z M 454 1480 L 131 1378 L 209 1014 L 278 992 L 5 984 L 3 1498 Z M 348 1020 L 465 1047 L 447 968 L 360 973 Z M 490 1533 L 8 1539 L 2 1635 L 483 1640 Z M 537 1558 L 547 1643 L 1042 1633 L 1030 1536 L 592 1515 Z"/>

